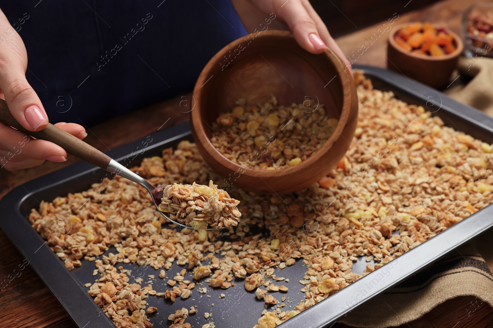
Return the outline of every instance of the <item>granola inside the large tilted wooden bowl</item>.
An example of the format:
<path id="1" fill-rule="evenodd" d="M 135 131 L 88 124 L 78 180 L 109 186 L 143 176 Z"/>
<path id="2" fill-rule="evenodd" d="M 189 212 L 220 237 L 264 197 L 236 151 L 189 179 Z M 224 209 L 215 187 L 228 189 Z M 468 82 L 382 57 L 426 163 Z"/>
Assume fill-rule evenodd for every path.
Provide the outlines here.
<path id="1" fill-rule="evenodd" d="M 226 158 L 252 169 L 301 163 L 320 149 L 338 123 L 337 118 L 326 118 L 324 106 L 311 99 L 283 106 L 272 96 L 247 110 L 245 99 L 237 104 L 212 123 L 211 143 Z"/>

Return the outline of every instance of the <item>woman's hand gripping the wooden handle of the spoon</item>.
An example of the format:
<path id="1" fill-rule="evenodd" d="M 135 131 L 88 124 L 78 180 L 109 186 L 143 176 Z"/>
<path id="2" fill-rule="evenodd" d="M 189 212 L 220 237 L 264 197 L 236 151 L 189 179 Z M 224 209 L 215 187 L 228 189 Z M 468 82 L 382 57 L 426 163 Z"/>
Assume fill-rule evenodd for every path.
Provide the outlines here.
<path id="1" fill-rule="evenodd" d="M 48 116 L 34 89 L 26 80 L 28 57 L 24 42 L 0 10 L 0 98 L 5 99 L 13 117 L 27 130 L 39 131 Z M 56 123 L 79 139 L 87 136 L 83 126 Z M 15 171 L 40 165 L 44 160 L 63 162 L 67 152 L 49 141 L 33 139 L 0 122 L 0 166 Z"/>

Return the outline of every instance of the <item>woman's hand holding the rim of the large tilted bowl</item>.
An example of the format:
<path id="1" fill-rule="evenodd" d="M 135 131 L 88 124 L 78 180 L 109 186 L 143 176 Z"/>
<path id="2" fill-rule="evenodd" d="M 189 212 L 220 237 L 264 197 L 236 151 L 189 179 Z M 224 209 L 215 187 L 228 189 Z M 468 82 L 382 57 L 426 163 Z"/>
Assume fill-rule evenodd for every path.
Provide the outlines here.
<path id="1" fill-rule="evenodd" d="M 270 13 L 276 15 L 270 29 L 291 30 L 298 44 L 320 54 L 329 47 L 351 70 L 351 63 L 330 36 L 325 24 L 308 0 L 232 0 L 248 32 L 258 28 Z"/>

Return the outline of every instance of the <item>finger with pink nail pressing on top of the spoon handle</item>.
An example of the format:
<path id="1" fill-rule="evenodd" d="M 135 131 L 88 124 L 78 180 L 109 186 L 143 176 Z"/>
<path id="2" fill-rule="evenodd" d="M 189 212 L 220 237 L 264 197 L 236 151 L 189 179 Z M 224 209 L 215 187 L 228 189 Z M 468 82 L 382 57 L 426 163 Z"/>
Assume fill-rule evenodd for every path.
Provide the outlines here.
<path id="1" fill-rule="evenodd" d="M 26 80 L 22 64 L 0 65 L 0 89 L 12 116 L 29 131 L 39 131 L 48 124 L 48 116 L 34 89 Z"/>

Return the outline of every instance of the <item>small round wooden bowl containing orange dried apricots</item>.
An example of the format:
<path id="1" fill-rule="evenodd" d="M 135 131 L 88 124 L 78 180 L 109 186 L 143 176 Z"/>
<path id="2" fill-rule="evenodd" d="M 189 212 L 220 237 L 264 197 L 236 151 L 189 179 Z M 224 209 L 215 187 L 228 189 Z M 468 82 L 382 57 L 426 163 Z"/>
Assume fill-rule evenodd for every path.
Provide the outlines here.
<path id="1" fill-rule="evenodd" d="M 402 49 L 394 40 L 394 35 L 403 27 L 413 23 L 405 23 L 394 28 L 387 38 L 387 68 L 408 78 L 415 79 L 435 89 L 442 89 L 449 83 L 452 71 L 457 67 L 458 57 L 464 49 L 460 37 L 451 30 L 443 28 L 454 37 L 456 51 L 453 53 L 433 57 L 414 54 Z M 435 28 L 442 28 L 435 25 Z"/>

